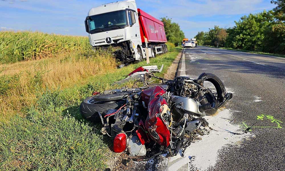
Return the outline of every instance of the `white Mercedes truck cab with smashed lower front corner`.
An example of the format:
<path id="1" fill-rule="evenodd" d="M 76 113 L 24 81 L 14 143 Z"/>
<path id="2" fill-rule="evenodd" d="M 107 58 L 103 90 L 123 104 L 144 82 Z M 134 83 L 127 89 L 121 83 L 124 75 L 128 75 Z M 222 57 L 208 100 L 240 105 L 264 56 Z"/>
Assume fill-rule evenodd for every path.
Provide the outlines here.
<path id="1" fill-rule="evenodd" d="M 93 47 L 118 46 L 122 61 L 142 60 L 140 25 L 135 0 L 103 4 L 89 10 L 86 32 Z"/>

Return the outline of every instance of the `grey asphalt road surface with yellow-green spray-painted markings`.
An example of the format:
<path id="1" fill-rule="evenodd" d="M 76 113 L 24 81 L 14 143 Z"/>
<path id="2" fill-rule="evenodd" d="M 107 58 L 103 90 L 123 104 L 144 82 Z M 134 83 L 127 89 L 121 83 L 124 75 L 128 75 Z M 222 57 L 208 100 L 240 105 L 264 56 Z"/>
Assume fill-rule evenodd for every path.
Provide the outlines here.
<path id="1" fill-rule="evenodd" d="M 227 104 L 233 123 L 257 122 L 254 137 L 222 148 L 208 170 L 285 170 L 285 58 L 199 46 L 184 55 L 178 75 L 217 75 L 233 92 Z"/>

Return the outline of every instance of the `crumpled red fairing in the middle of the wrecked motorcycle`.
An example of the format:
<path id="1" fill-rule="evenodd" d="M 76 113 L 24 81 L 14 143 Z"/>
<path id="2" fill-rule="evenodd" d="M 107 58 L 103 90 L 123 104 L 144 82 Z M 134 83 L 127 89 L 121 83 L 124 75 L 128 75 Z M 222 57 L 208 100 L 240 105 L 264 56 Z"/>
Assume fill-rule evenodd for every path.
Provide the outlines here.
<path id="1" fill-rule="evenodd" d="M 145 127 L 150 137 L 158 144 L 168 146 L 170 144 L 170 132 L 166 123 L 160 117 L 162 106 L 167 102 L 162 95 L 166 90 L 161 86 L 153 86 L 142 92 L 142 101 L 148 109 L 148 116 L 145 120 Z"/>

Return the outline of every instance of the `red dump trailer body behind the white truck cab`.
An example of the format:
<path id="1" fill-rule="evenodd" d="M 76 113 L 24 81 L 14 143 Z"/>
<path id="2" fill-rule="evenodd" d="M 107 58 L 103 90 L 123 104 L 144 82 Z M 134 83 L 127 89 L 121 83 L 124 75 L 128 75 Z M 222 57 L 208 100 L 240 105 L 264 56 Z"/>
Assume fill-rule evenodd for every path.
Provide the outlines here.
<path id="1" fill-rule="evenodd" d="M 148 42 L 167 42 L 163 22 L 139 8 L 138 13 L 142 42 L 145 42 L 144 37 L 147 38 Z"/>

